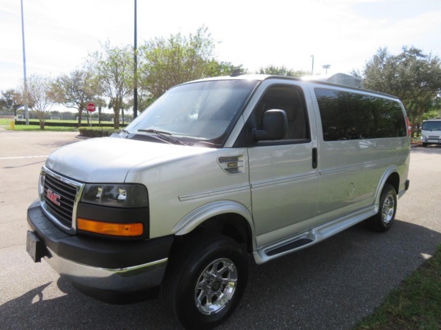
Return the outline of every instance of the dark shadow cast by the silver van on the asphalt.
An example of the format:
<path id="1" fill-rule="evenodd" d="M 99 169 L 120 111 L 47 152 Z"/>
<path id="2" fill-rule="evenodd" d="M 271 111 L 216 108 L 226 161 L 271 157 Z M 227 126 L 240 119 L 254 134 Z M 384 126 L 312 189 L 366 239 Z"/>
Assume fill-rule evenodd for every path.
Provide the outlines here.
<path id="1" fill-rule="evenodd" d="M 253 265 L 239 308 L 221 328 L 350 329 L 440 242 L 437 231 L 407 222 L 397 221 L 383 234 L 359 224 L 308 249 Z M 59 279 L 57 286 L 66 294 L 45 300 L 49 284 L 3 304 L 1 328 L 177 327 L 157 298 L 130 305 L 106 304 Z"/>

